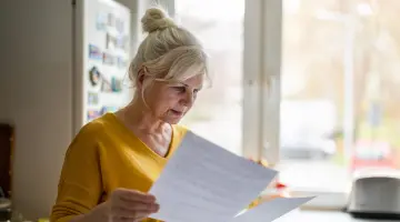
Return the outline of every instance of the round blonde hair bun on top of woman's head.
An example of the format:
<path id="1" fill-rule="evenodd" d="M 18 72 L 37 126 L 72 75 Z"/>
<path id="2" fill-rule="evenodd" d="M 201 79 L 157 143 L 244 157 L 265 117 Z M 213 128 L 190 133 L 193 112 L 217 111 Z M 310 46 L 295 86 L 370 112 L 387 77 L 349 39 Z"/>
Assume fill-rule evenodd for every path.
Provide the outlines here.
<path id="1" fill-rule="evenodd" d="M 159 8 L 148 9 L 141 22 L 143 31 L 149 33 L 168 27 L 177 27 L 174 21 L 168 17 L 167 12 Z"/>

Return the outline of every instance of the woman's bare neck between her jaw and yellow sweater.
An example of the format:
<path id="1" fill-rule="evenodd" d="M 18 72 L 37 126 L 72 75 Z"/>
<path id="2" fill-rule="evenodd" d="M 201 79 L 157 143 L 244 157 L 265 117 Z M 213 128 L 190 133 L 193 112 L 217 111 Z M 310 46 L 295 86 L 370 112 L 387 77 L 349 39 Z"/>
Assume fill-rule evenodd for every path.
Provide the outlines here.
<path id="1" fill-rule="evenodd" d="M 121 114 L 129 125 L 134 125 L 137 130 L 144 133 L 158 133 L 166 125 L 166 122 L 154 117 L 149 108 L 139 99 L 132 100 L 131 103 L 123 108 Z"/>

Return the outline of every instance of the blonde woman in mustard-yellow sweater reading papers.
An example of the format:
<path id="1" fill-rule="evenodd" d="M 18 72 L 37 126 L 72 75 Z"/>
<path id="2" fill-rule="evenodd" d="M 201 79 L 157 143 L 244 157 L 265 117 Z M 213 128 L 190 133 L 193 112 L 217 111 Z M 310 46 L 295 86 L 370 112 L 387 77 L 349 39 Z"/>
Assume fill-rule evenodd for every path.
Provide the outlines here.
<path id="1" fill-rule="evenodd" d="M 199 41 L 157 8 L 141 20 L 148 37 L 129 69 L 136 93 L 116 113 L 86 124 L 70 144 L 52 222 L 156 221 L 147 193 L 184 137 L 177 125 L 207 78 Z"/>

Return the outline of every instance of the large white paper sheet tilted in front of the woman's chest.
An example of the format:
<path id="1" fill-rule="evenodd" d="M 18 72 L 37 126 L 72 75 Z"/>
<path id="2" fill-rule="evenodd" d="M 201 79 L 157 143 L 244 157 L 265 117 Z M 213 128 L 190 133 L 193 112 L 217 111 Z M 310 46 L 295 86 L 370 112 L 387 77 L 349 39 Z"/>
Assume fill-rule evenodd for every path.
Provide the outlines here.
<path id="1" fill-rule="evenodd" d="M 150 193 L 167 222 L 231 221 L 263 191 L 277 171 L 188 132 Z"/>

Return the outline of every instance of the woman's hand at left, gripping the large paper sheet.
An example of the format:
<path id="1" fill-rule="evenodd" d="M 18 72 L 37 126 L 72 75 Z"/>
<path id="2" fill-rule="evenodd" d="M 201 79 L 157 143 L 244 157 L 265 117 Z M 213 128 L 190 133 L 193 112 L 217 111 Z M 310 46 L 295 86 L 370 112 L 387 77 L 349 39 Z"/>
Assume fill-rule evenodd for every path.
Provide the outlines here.
<path id="1" fill-rule="evenodd" d="M 156 213 L 159 205 L 156 198 L 140 191 L 118 189 L 111 198 L 94 208 L 82 221 L 129 221 L 139 222 Z"/>

